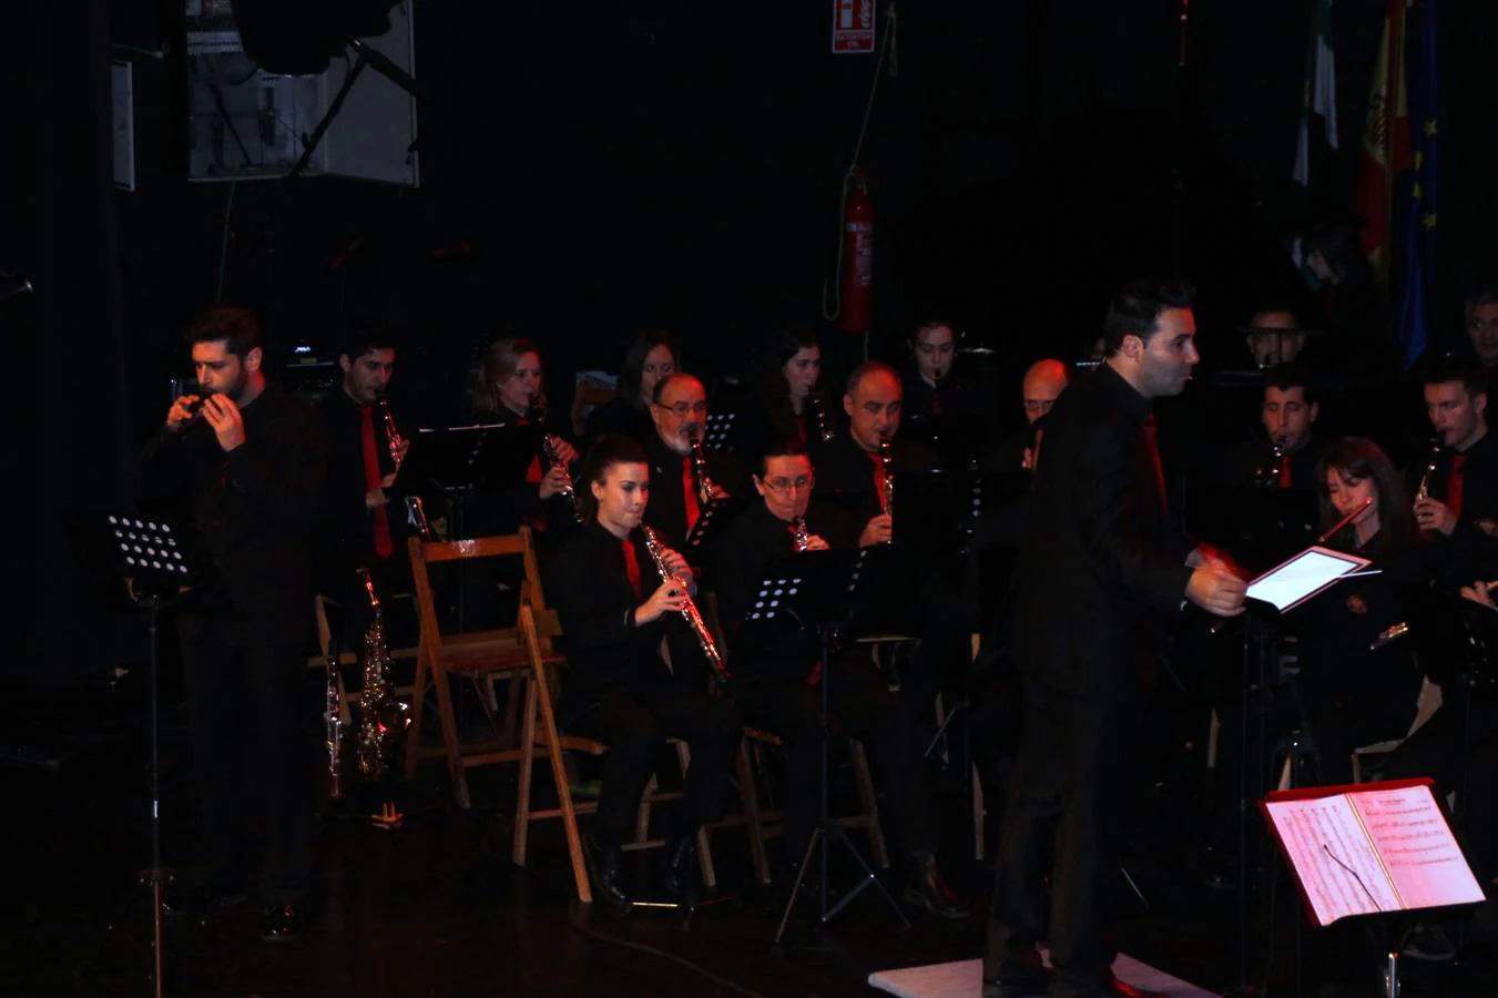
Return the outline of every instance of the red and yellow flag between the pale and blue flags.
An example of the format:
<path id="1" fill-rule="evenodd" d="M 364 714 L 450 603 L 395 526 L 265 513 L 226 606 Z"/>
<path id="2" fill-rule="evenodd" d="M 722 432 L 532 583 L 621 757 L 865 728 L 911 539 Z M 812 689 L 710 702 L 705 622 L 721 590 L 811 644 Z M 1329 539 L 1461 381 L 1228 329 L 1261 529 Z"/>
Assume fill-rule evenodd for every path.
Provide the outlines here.
<path id="1" fill-rule="evenodd" d="M 1363 219 L 1363 252 L 1374 273 L 1389 279 L 1389 217 L 1395 175 L 1410 168 L 1410 112 L 1404 87 L 1405 0 L 1389 0 L 1378 43 L 1368 123 L 1357 166 L 1357 213 Z"/>

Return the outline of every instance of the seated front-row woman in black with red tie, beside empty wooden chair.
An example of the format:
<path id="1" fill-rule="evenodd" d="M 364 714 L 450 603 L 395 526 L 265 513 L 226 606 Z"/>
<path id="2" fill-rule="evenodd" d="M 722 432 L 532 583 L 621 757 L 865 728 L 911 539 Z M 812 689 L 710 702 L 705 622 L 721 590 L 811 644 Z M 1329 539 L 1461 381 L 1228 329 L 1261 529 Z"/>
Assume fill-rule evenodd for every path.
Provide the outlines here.
<path id="1" fill-rule="evenodd" d="M 646 550 L 641 521 L 650 465 L 644 448 L 605 435 L 589 451 L 584 471 L 589 523 L 557 556 L 551 586 L 566 635 L 562 727 L 608 745 L 587 850 L 598 893 L 628 905 L 622 847 L 661 745 L 668 736 L 680 737 L 692 752 L 667 851 L 667 887 L 685 893 L 697 830 L 721 815 L 743 725 L 731 701 L 673 676 L 661 659 L 667 626 L 682 625 L 697 586 L 677 551 L 661 550 L 673 575 L 662 580 Z"/>

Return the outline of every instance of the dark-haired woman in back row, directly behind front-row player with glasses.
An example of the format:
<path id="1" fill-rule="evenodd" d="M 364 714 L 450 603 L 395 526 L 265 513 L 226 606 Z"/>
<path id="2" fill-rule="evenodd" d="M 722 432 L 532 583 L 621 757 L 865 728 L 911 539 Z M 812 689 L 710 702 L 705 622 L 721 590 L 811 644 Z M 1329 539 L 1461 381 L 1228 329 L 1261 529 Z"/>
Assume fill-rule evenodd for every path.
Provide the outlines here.
<path id="1" fill-rule="evenodd" d="M 762 343 L 748 406 L 739 414 L 737 450 L 755 465 L 776 441 L 815 454 L 837 427 L 822 387 L 822 348 L 806 324 L 776 330 Z"/>

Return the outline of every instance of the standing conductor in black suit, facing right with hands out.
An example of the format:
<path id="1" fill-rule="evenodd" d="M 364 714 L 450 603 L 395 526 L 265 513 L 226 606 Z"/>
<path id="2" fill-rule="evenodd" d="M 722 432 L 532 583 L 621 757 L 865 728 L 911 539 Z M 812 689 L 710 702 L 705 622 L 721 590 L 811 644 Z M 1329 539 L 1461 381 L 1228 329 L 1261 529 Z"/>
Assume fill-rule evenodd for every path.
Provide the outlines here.
<path id="1" fill-rule="evenodd" d="M 1104 330 L 1104 364 L 1052 409 L 1014 587 L 1011 653 L 1025 737 L 1004 814 L 984 994 L 1044 988 L 1044 836 L 1055 821 L 1052 998 L 1121 988 L 1104 905 L 1109 796 L 1131 665 L 1186 602 L 1243 610 L 1245 584 L 1171 529 L 1150 400 L 1179 394 L 1200 360 L 1185 286 L 1134 285 Z"/>

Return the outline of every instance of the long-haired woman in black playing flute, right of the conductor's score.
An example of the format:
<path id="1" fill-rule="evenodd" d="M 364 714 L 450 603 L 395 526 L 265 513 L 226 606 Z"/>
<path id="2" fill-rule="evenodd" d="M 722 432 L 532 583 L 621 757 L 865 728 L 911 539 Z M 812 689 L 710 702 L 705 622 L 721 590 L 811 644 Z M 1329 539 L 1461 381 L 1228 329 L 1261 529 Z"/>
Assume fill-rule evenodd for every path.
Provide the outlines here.
<path id="1" fill-rule="evenodd" d="M 1357 512 L 1329 547 L 1372 559 L 1377 575 L 1338 583 L 1293 611 L 1299 634 L 1303 722 L 1323 784 L 1351 782 L 1353 749 L 1404 737 L 1416 713 L 1420 670 L 1408 643 L 1374 649 L 1408 617 L 1411 592 L 1429 589 L 1432 548 L 1383 450 L 1360 436 L 1335 442 L 1315 471 L 1321 529 Z"/>

